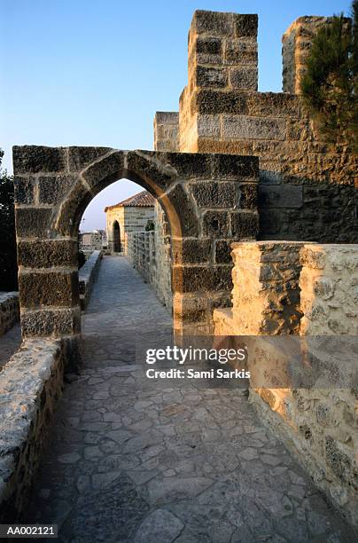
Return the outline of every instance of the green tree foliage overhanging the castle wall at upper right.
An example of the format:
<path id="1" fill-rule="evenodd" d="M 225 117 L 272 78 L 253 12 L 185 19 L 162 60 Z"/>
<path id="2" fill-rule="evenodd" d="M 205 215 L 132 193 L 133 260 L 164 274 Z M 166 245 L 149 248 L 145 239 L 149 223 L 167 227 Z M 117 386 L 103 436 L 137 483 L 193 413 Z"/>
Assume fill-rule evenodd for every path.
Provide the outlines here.
<path id="1" fill-rule="evenodd" d="M 352 5 L 352 25 L 343 15 L 320 28 L 307 57 L 301 92 L 326 141 L 358 148 L 358 0 Z"/>

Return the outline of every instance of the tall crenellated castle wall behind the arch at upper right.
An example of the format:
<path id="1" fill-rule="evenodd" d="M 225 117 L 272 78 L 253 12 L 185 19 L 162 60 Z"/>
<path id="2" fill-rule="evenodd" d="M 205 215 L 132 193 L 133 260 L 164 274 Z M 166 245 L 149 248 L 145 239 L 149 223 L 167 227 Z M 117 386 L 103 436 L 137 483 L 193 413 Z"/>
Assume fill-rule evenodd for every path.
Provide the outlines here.
<path id="1" fill-rule="evenodd" d="M 257 92 L 255 15 L 198 11 L 192 20 L 179 150 L 260 158 L 260 240 L 358 239 L 356 155 L 323 141 L 296 94 L 325 22 L 300 18 L 284 34 L 284 92 L 273 93 Z"/>

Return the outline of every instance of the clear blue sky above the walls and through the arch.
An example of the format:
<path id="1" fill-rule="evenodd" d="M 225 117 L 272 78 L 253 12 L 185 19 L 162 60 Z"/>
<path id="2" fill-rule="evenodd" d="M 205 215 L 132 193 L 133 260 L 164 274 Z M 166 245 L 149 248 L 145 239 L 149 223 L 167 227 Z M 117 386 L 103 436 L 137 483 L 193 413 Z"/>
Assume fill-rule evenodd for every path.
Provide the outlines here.
<path id="1" fill-rule="evenodd" d="M 281 91 L 281 36 L 301 15 L 349 12 L 349 0 L 0 0 L 0 146 L 152 149 L 157 110 L 176 111 L 187 80 L 187 33 L 196 9 L 259 14 L 259 86 Z M 137 192 L 111 185 L 103 204 Z"/>

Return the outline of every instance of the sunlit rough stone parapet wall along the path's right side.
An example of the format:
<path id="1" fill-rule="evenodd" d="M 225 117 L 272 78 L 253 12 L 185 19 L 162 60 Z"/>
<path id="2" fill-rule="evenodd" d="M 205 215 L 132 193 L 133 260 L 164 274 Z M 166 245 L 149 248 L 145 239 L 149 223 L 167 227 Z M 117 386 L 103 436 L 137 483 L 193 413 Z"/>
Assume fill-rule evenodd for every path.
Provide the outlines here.
<path id="1" fill-rule="evenodd" d="M 250 401 L 317 487 L 358 528 L 356 382 L 337 384 L 342 375 L 358 370 L 358 245 L 241 242 L 233 244 L 231 255 L 233 307 L 214 311 L 215 334 L 300 336 L 300 360 L 291 351 L 283 356 L 265 348 L 255 350 L 251 363 L 249 357 Z M 292 367 L 307 371 L 309 389 L 278 388 L 282 370 Z M 256 388 L 257 375 L 278 384 Z"/>

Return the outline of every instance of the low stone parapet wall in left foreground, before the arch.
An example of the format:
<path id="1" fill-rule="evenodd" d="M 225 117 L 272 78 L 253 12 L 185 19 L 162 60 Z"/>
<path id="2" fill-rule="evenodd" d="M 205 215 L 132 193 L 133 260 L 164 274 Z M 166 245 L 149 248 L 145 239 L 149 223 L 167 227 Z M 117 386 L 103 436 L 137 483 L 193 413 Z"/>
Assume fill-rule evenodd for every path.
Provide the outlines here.
<path id="1" fill-rule="evenodd" d="M 60 340 L 23 342 L 0 374 L 0 523 L 27 508 L 62 384 Z"/>

